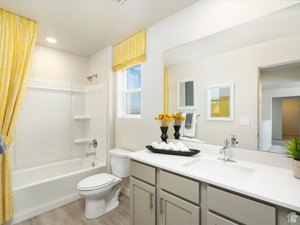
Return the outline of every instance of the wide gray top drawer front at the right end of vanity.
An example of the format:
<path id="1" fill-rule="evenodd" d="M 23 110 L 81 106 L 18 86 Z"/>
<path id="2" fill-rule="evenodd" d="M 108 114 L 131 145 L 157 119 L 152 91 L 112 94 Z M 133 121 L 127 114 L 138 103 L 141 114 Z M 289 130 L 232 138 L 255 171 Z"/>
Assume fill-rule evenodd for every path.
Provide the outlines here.
<path id="1" fill-rule="evenodd" d="M 245 224 L 276 223 L 276 209 L 214 187 L 207 187 L 207 208 Z"/>

